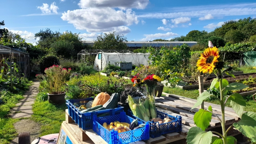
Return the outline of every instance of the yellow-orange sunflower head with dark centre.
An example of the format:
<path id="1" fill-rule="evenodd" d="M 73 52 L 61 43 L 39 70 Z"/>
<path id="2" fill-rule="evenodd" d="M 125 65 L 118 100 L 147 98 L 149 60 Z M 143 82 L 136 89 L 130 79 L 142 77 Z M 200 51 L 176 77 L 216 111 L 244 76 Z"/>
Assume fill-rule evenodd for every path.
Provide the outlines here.
<path id="1" fill-rule="evenodd" d="M 216 63 L 219 62 L 220 57 L 218 48 L 207 48 L 201 53 L 201 57 L 197 60 L 197 69 L 203 73 L 212 73 L 212 70 L 216 67 Z"/>

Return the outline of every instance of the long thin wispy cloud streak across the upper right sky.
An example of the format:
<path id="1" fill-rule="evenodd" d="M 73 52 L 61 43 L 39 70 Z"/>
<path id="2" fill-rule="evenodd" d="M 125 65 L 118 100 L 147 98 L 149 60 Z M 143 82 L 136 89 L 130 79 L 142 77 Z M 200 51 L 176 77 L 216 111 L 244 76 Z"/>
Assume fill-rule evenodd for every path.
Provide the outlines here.
<path id="1" fill-rule="evenodd" d="M 138 15 L 138 18 L 149 18 L 149 19 L 154 19 L 154 18 L 174 19 L 179 17 L 200 18 L 209 14 L 209 7 L 213 8 L 211 9 L 211 14 L 214 17 L 254 15 L 256 13 L 255 6 L 256 6 L 256 3 L 177 7 L 177 8 L 170 9 L 169 12 L 144 13 L 144 14 Z"/>

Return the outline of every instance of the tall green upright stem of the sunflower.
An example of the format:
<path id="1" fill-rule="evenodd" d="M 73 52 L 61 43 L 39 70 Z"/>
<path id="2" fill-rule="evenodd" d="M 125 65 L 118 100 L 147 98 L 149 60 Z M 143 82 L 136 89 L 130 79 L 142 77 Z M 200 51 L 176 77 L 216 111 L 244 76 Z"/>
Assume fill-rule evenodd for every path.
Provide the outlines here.
<path id="1" fill-rule="evenodd" d="M 223 144 L 227 144 L 227 135 L 226 135 L 226 128 L 225 128 L 225 105 L 224 105 L 224 96 L 223 96 L 223 87 L 222 87 L 222 72 L 218 70 L 220 75 L 220 106 L 221 106 L 221 114 L 222 114 L 222 135 L 223 135 Z"/>

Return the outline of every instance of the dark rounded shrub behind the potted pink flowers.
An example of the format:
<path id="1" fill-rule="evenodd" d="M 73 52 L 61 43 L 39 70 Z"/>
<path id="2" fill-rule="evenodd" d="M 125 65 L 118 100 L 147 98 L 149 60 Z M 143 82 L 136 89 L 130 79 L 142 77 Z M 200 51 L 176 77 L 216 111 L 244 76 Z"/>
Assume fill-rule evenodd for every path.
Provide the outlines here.
<path id="1" fill-rule="evenodd" d="M 44 73 L 45 68 L 49 68 L 52 65 L 59 65 L 60 61 L 58 60 L 58 58 L 54 55 L 46 55 L 44 57 L 42 57 L 39 66 L 40 66 L 40 70 L 41 73 Z"/>

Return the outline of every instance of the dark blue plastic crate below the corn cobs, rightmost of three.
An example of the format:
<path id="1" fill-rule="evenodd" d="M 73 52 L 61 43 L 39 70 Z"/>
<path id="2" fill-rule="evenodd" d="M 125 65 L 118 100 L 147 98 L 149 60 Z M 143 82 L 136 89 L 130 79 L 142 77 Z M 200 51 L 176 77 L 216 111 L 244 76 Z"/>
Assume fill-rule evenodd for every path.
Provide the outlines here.
<path id="1" fill-rule="evenodd" d="M 134 115 L 132 115 L 132 111 L 129 109 L 127 112 L 128 116 L 131 116 L 132 118 L 138 118 Z M 160 137 L 164 133 L 169 133 L 169 132 L 180 132 L 182 130 L 182 124 L 181 124 L 181 116 L 171 116 L 166 113 L 163 113 L 161 111 L 156 110 L 156 117 L 161 118 L 162 120 L 165 117 L 169 117 L 172 122 L 169 123 L 164 123 L 164 124 L 159 124 L 159 122 L 153 123 L 149 122 L 149 136 L 150 138 L 156 138 Z M 146 123 L 144 120 L 138 118 L 140 122 Z"/>

